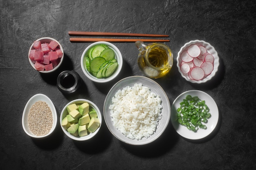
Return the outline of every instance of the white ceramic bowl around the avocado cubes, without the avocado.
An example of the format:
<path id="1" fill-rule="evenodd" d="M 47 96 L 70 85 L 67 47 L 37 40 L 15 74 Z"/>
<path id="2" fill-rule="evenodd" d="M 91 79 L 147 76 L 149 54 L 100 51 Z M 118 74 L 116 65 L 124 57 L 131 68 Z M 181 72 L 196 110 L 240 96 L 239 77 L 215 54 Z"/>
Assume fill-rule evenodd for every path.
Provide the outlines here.
<path id="1" fill-rule="evenodd" d="M 88 134 L 86 136 L 83 136 L 83 137 L 75 137 L 74 135 L 71 135 L 67 130 L 65 130 L 63 128 L 63 126 L 61 126 L 61 129 L 63 130 L 65 135 L 67 135 L 68 137 L 70 137 L 71 139 L 76 140 L 76 141 L 85 141 L 85 140 L 91 139 L 92 137 L 94 137 L 97 134 L 97 132 L 99 132 L 99 129 L 101 127 L 101 122 L 102 122 L 101 111 L 96 106 L 96 104 L 94 104 L 93 102 L 91 102 L 90 100 L 87 100 L 87 99 L 75 99 L 75 100 L 69 102 L 68 104 L 66 104 L 66 106 L 63 108 L 63 110 L 61 112 L 60 124 L 61 124 L 62 119 L 64 119 L 66 117 L 66 115 L 68 114 L 67 113 L 67 109 L 66 109 L 68 105 L 73 104 L 73 103 L 75 103 L 75 104 L 82 104 L 84 102 L 87 102 L 90 107 L 92 107 L 92 108 L 94 108 L 96 110 L 97 117 L 98 117 L 98 119 L 100 121 L 100 126 L 99 126 L 99 128 L 95 132 L 90 133 L 90 134 Z"/>

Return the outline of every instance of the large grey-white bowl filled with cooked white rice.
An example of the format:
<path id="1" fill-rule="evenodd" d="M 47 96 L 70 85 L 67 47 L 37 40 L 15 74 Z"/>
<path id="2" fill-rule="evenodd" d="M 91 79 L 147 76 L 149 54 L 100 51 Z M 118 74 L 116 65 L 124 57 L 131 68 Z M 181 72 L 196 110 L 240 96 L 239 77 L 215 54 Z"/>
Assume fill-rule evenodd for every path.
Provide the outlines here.
<path id="1" fill-rule="evenodd" d="M 112 135 L 131 145 L 155 141 L 166 129 L 171 105 L 163 88 L 143 76 L 121 79 L 108 92 L 103 115 Z"/>

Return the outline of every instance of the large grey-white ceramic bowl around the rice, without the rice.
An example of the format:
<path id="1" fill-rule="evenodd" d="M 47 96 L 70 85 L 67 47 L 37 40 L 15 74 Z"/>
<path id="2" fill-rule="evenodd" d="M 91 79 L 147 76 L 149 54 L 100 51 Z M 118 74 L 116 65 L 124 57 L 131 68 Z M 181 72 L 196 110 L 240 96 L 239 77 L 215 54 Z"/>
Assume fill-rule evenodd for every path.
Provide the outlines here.
<path id="1" fill-rule="evenodd" d="M 132 87 L 134 86 L 135 83 L 141 83 L 143 86 L 149 87 L 151 92 L 158 94 L 162 100 L 162 106 L 163 106 L 162 118 L 159 119 L 157 128 L 153 133 L 153 135 L 150 135 L 150 137 L 148 138 L 143 137 L 140 140 L 130 139 L 126 137 L 124 134 L 122 134 L 117 128 L 115 128 L 115 126 L 113 126 L 112 117 L 110 116 L 110 110 L 109 110 L 109 106 L 110 104 L 112 104 L 112 97 L 115 95 L 115 93 L 118 90 L 122 90 L 126 86 Z M 154 80 L 144 76 L 130 76 L 130 77 L 121 79 L 119 82 L 117 82 L 110 89 L 105 99 L 103 111 L 104 111 L 104 119 L 106 121 L 106 125 L 110 130 L 110 132 L 112 133 L 112 135 L 114 135 L 120 141 L 126 144 L 131 144 L 131 145 L 144 145 L 144 144 L 149 144 L 150 142 L 155 141 L 160 135 L 162 135 L 171 117 L 170 102 L 163 88 L 159 84 L 157 84 Z"/>

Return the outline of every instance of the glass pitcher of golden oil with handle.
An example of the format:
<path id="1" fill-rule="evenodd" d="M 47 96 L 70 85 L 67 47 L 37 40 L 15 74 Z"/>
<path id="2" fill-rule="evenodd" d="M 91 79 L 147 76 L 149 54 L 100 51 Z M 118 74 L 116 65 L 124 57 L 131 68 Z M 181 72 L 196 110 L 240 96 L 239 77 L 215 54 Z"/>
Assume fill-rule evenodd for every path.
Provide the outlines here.
<path id="1" fill-rule="evenodd" d="M 139 49 L 138 65 L 147 77 L 163 77 L 173 66 L 173 54 L 171 49 L 162 43 L 145 44 L 136 41 L 135 45 Z"/>

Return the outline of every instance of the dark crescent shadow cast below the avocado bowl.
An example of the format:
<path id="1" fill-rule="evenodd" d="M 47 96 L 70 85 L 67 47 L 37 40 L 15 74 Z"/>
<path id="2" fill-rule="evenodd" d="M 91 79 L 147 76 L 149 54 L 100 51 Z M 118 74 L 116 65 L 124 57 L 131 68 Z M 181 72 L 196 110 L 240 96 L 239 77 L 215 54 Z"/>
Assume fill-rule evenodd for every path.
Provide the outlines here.
<path id="1" fill-rule="evenodd" d="M 103 152 L 106 148 L 108 148 L 108 146 L 111 143 L 111 140 L 112 140 L 112 135 L 108 131 L 106 124 L 103 123 L 102 121 L 101 128 L 99 129 L 99 132 L 94 137 L 92 137 L 87 141 L 73 141 L 73 142 L 79 150 L 85 153 L 95 154 L 95 153 Z"/>

